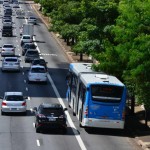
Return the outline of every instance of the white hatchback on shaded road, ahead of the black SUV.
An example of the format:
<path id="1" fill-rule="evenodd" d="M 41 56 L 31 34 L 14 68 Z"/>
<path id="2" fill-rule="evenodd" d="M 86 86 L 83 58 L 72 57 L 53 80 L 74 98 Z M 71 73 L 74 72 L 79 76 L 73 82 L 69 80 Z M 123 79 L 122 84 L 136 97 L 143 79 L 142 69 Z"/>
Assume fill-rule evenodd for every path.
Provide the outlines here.
<path id="1" fill-rule="evenodd" d="M 47 83 L 47 71 L 44 66 L 33 65 L 28 72 L 28 83 L 30 82 Z"/>

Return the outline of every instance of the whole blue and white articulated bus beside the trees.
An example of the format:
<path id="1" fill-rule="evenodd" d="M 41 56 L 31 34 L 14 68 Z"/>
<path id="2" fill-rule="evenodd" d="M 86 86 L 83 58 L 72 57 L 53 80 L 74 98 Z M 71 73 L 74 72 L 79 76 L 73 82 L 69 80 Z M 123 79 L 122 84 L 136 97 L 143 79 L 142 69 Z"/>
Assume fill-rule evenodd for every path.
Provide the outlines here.
<path id="1" fill-rule="evenodd" d="M 115 76 L 71 63 L 67 99 L 80 127 L 124 129 L 126 87 Z"/>

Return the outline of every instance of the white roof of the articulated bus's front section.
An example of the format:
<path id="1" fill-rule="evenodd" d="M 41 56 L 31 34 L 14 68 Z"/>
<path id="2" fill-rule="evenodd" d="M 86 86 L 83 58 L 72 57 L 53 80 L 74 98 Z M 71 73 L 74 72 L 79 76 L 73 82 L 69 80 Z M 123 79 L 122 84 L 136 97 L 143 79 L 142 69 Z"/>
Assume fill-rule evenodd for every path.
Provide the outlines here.
<path id="1" fill-rule="evenodd" d="M 71 63 L 69 71 L 74 72 L 77 76 L 82 72 L 93 72 L 92 63 Z"/>

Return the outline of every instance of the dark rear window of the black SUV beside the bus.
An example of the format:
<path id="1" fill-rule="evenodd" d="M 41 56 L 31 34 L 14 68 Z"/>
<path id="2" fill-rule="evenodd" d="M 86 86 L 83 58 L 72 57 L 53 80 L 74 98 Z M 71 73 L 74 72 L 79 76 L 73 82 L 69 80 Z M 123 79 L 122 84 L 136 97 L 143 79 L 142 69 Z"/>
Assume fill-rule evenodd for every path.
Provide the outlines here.
<path id="1" fill-rule="evenodd" d="M 41 112 L 42 114 L 49 115 L 51 113 L 55 115 L 63 114 L 63 109 L 62 108 L 42 108 Z"/>

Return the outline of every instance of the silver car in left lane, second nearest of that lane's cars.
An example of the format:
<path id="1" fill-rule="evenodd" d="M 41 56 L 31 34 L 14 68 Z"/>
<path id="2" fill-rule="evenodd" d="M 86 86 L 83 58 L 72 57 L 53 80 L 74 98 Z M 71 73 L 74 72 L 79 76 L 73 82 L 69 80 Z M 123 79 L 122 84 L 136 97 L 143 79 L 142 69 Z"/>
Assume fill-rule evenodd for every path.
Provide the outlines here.
<path id="1" fill-rule="evenodd" d="M 20 71 L 20 61 L 18 57 L 4 57 L 1 70 Z"/>

